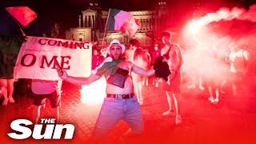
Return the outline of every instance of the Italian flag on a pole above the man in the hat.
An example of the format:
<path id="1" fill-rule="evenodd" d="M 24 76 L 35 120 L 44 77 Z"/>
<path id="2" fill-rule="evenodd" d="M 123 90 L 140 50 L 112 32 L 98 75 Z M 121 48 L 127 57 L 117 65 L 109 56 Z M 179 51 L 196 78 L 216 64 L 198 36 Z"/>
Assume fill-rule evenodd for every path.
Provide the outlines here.
<path id="1" fill-rule="evenodd" d="M 110 9 L 106 30 L 120 30 L 134 36 L 141 23 L 134 16 L 123 10 Z"/>

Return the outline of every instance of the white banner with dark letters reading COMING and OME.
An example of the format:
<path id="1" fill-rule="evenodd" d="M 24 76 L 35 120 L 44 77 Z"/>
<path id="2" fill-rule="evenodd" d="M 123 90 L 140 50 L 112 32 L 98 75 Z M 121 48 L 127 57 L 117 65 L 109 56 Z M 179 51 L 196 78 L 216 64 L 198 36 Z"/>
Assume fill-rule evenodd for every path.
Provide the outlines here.
<path id="1" fill-rule="evenodd" d="M 92 46 L 91 42 L 27 36 L 18 54 L 14 77 L 60 80 L 58 64 L 70 76 L 87 77 L 91 74 Z"/>

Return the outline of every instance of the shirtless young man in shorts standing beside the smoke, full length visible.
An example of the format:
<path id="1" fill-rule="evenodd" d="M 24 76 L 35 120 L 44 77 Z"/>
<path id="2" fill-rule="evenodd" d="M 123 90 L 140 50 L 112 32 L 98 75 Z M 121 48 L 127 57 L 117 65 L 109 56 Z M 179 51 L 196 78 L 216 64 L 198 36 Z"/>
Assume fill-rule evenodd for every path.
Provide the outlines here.
<path id="1" fill-rule="evenodd" d="M 171 96 L 174 98 L 174 105 L 176 110 L 176 121 L 175 124 L 178 125 L 182 123 L 182 118 L 180 115 L 180 107 L 179 107 L 179 98 L 181 97 L 180 94 L 180 84 L 181 84 L 181 74 L 180 74 L 180 67 L 182 66 L 183 60 L 182 60 L 182 54 L 180 47 L 172 42 L 170 42 L 171 34 L 170 31 L 164 31 L 162 33 L 162 43 L 165 44 L 165 46 L 161 50 L 161 55 L 164 56 L 165 61 L 169 65 L 170 69 L 170 76 L 169 76 L 169 82 L 167 82 L 166 88 L 166 96 L 167 101 L 169 104 L 169 110 L 164 112 L 162 115 L 168 116 L 172 115 L 174 113 L 174 110 L 172 110 L 171 105 Z"/>

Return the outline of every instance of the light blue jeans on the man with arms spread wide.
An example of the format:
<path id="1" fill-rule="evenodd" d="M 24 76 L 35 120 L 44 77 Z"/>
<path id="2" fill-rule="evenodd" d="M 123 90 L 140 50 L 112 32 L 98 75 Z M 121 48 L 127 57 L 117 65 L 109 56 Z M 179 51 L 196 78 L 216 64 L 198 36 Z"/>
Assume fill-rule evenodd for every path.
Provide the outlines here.
<path id="1" fill-rule="evenodd" d="M 144 126 L 142 110 L 136 97 L 130 99 L 105 98 L 92 134 L 93 139 L 102 139 L 123 119 L 134 134 L 142 134 Z"/>

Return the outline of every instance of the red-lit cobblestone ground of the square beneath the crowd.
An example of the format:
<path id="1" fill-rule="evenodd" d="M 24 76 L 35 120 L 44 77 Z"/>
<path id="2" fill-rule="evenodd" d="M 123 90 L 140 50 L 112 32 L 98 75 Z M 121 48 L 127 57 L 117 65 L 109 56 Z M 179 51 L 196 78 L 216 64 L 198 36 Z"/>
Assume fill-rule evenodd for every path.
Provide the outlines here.
<path id="1" fill-rule="evenodd" d="M 120 140 L 120 136 L 129 129 L 126 122 L 119 122 L 110 131 L 111 143 L 255 143 L 256 142 L 256 91 L 240 90 L 237 97 L 230 91 L 222 94 L 218 104 L 208 101 L 208 92 L 199 89 L 187 89 L 182 85 L 182 125 L 174 124 L 174 116 L 163 117 L 168 109 L 166 94 L 161 88 L 150 84 L 144 86 L 144 104 L 141 106 L 145 124 L 145 134 L 140 138 Z M 161 83 L 160 86 L 161 87 Z M 63 82 L 60 123 L 75 126 L 72 140 L 14 140 L 7 136 L 13 132 L 10 122 L 15 119 L 31 119 L 32 97 L 29 94 L 15 94 L 15 103 L 1 106 L 0 142 L 58 142 L 88 143 L 101 105 L 86 106 L 80 98 L 81 86 Z M 1 101 L 2 102 L 2 101 Z M 50 115 L 49 102 L 42 109 L 42 118 Z"/>

